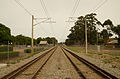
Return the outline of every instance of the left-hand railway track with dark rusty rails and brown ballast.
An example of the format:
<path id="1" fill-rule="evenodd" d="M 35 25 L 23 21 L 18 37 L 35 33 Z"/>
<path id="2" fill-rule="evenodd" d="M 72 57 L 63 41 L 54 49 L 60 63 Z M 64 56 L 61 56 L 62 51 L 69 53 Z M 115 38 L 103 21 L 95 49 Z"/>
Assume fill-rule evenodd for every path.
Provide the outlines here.
<path id="1" fill-rule="evenodd" d="M 5 75 L 1 79 L 34 79 L 37 73 L 53 55 L 56 48 L 57 47 L 52 48 L 51 50 L 45 52 L 34 60 L 16 69 L 15 71 Z"/>

